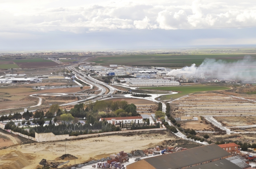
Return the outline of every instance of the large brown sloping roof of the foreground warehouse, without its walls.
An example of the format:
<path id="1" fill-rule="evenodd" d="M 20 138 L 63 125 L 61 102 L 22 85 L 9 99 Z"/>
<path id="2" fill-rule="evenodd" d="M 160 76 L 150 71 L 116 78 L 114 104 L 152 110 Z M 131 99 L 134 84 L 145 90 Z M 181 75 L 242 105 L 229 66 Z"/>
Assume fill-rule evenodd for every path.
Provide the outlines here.
<path id="1" fill-rule="evenodd" d="M 178 169 L 226 156 L 230 156 L 230 154 L 218 145 L 210 144 L 207 146 L 182 150 L 180 152 L 146 158 L 144 160 L 155 169 Z"/>

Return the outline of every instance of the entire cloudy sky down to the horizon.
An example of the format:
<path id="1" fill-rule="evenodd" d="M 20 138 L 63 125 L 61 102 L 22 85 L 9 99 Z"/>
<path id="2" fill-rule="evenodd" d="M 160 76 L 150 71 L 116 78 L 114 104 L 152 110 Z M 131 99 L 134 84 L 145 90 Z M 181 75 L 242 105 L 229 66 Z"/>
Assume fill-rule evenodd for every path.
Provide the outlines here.
<path id="1" fill-rule="evenodd" d="M 1 50 L 256 44 L 255 0 L 0 0 Z"/>

